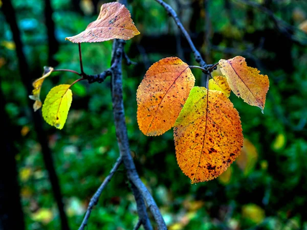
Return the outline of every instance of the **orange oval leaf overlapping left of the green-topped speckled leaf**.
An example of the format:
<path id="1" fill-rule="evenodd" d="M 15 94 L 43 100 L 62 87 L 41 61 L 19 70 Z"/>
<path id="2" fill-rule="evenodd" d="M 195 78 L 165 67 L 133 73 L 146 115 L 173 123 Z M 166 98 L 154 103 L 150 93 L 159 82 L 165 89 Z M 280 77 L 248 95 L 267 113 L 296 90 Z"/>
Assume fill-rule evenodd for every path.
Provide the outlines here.
<path id="1" fill-rule="evenodd" d="M 140 130 L 148 136 L 169 130 L 194 82 L 189 66 L 177 57 L 164 58 L 151 65 L 137 90 Z"/>

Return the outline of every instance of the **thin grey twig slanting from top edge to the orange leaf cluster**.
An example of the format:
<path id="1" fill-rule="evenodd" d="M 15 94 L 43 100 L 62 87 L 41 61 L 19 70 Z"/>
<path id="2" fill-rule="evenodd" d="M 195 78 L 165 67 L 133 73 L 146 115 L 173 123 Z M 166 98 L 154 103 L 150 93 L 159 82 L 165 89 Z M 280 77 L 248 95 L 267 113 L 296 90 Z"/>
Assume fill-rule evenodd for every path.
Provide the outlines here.
<path id="1" fill-rule="evenodd" d="M 201 53 L 195 48 L 195 45 L 190 37 L 190 35 L 188 34 L 188 32 L 186 31 L 186 29 L 183 27 L 177 13 L 171 8 L 171 6 L 169 6 L 168 4 L 166 4 L 165 2 L 163 2 L 162 0 L 156 0 L 156 2 L 158 2 L 161 6 L 164 7 L 164 9 L 167 11 L 167 13 L 174 19 L 174 21 L 176 22 L 177 26 L 179 27 L 179 29 L 181 30 L 181 32 L 183 33 L 183 35 L 185 36 L 185 38 L 187 39 L 192 52 L 194 54 L 195 60 L 200 63 L 200 65 L 203 68 L 207 68 L 207 63 L 204 61 L 204 59 L 201 56 Z"/>

